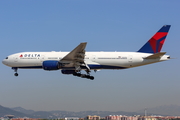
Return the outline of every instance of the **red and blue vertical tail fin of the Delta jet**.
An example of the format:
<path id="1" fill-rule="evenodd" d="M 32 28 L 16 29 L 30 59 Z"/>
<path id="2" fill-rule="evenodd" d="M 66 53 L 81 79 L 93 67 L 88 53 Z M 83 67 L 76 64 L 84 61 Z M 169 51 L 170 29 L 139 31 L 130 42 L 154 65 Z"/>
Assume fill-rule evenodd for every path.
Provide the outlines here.
<path id="1" fill-rule="evenodd" d="M 171 25 L 164 25 L 138 52 L 159 53 Z"/>

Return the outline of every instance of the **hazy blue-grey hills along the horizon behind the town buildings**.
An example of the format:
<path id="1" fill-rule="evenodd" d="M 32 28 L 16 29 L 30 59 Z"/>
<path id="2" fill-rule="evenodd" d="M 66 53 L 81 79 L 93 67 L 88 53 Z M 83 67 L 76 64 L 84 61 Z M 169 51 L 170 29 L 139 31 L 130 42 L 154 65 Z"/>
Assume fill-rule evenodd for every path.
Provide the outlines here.
<path id="1" fill-rule="evenodd" d="M 169 115 L 169 116 L 178 116 L 180 115 L 180 106 L 177 105 L 164 105 L 154 108 L 147 109 L 148 115 Z M 14 117 L 30 117 L 30 118 L 65 118 L 65 117 L 80 117 L 84 118 L 87 115 L 98 115 L 105 117 L 108 115 L 144 115 L 144 110 L 139 110 L 137 112 L 124 112 L 124 111 L 81 111 L 81 112 L 72 112 L 72 111 L 33 111 L 26 110 L 21 107 L 7 108 L 0 105 L 0 117 L 5 115 L 14 115 Z"/>

